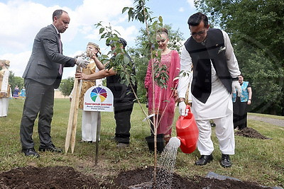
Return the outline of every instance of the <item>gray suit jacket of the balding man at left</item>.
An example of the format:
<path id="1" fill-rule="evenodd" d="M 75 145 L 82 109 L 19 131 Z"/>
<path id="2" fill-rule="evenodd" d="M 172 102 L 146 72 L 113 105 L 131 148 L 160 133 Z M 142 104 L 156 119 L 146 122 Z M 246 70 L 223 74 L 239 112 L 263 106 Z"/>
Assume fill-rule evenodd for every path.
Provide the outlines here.
<path id="1" fill-rule="evenodd" d="M 75 65 L 74 58 L 60 54 L 59 40 L 52 24 L 38 32 L 33 42 L 33 52 L 23 72 L 24 79 L 33 79 L 45 85 L 54 84 L 54 88 L 58 88 L 62 78 L 58 73 L 60 64 L 63 67 Z"/>

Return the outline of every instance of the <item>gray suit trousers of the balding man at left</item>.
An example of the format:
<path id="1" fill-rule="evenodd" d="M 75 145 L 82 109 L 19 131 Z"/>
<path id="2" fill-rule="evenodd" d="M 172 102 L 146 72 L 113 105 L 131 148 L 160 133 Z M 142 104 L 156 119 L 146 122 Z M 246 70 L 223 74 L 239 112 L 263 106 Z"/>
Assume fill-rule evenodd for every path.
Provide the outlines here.
<path id="1" fill-rule="evenodd" d="M 20 127 L 22 149 L 34 147 L 33 125 L 37 117 L 40 146 L 49 146 L 53 144 L 50 137 L 50 123 L 53 118 L 54 86 L 40 84 L 32 79 L 25 79 L 25 86 L 26 100 Z"/>

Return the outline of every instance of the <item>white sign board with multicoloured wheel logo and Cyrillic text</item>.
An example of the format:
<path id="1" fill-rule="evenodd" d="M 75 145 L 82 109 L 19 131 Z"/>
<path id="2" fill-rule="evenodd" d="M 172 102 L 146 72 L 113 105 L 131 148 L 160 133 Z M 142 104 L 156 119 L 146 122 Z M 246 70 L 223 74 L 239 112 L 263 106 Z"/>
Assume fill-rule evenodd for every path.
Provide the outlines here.
<path id="1" fill-rule="evenodd" d="M 84 111 L 112 112 L 114 95 L 106 86 L 92 86 L 84 94 Z"/>

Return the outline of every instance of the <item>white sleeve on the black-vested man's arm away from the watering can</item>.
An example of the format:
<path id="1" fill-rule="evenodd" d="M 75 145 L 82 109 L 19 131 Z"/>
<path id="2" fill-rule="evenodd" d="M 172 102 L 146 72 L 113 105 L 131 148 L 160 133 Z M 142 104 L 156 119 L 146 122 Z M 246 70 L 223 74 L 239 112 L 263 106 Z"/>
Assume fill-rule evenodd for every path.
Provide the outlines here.
<path id="1" fill-rule="evenodd" d="M 223 30 L 222 30 L 222 33 L 224 36 L 224 45 L 226 47 L 226 52 L 225 52 L 226 64 L 231 74 L 231 77 L 236 78 L 241 74 L 241 71 L 239 71 L 239 64 L 234 54 L 234 49 L 231 46 L 229 35 Z"/>

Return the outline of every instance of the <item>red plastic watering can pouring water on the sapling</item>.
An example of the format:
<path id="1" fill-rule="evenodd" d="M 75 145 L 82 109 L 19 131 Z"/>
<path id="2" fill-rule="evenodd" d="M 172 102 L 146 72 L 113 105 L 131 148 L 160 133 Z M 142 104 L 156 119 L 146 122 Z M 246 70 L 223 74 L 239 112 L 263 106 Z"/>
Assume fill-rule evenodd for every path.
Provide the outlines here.
<path id="1" fill-rule="evenodd" d="M 180 115 L 175 127 L 178 139 L 180 139 L 180 149 L 183 153 L 190 154 L 195 151 L 197 147 L 199 132 L 195 122 L 195 117 L 190 111 L 190 105 L 187 105 L 186 109 L 188 109 L 187 116 Z"/>

